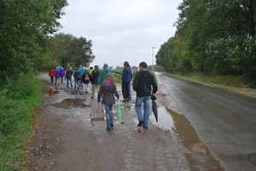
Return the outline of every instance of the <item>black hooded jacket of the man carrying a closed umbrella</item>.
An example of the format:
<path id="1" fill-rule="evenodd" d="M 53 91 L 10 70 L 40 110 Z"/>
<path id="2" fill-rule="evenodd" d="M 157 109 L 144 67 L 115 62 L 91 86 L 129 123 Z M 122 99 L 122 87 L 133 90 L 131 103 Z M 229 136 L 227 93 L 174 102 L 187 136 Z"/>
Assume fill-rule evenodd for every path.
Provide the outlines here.
<path id="1" fill-rule="evenodd" d="M 153 87 L 152 93 L 155 94 L 158 87 L 154 80 L 154 76 L 147 70 L 137 72 L 132 83 L 132 87 L 136 91 L 137 97 L 150 96 L 151 86 Z"/>

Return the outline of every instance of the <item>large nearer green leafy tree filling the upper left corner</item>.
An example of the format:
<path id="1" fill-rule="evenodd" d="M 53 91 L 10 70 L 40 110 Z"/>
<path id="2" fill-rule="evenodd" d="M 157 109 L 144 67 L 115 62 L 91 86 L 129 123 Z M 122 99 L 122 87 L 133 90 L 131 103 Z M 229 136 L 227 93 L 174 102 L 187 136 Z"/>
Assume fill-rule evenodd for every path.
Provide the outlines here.
<path id="1" fill-rule="evenodd" d="M 67 0 L 2 0 L 0 4 L 0 79 L 28 73 L 42 59 L 49 35 L 61 28 L 57 21 Z"/>

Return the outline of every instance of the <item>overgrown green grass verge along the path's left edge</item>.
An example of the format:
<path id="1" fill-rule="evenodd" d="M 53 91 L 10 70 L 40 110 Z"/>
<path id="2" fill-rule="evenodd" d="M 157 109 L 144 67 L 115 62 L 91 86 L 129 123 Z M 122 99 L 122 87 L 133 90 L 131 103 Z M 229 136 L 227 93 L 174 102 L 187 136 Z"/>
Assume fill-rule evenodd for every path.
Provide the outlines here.
<path id="1" fill-rule="evenodd" d="M 43 83 L 31 76 L 9 80 L 0 86 L 1 171 L 20 170 L 26 165 L 26 139 L 41 100 L 41 86 Z"/>

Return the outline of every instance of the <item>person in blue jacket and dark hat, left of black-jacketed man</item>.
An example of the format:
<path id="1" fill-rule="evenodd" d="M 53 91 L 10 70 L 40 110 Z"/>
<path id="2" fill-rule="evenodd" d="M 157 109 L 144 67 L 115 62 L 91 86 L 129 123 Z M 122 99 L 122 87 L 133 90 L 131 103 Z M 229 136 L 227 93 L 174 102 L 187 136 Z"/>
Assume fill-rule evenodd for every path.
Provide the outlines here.
<path id="1" fill-rule="evenodd" d="M 129 62 L 125 61 L 124 70 L 123 70 L 122 77 L 121 77 L 122 94 L 124 96 L 123 102 L 130 100 L 131 78 L 132 78 L 131 67 L 129 66 Z"/>

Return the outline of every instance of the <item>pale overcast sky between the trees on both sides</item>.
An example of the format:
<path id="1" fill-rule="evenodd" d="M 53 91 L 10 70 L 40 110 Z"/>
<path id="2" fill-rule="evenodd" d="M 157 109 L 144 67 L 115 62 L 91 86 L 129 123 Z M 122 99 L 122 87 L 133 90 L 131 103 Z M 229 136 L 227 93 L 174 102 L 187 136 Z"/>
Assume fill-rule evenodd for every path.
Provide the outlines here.
<path id="1" fill-rule="evenodd" d="M 90 66 L 152 65 L 152 56 L 173 37 L 183 0 L 68 0 L 60 32 L 92 41 Z M 154 51 L 153 51 L 153 47 Z M 154 58 L 155 62 L 155 58 Z"/>

